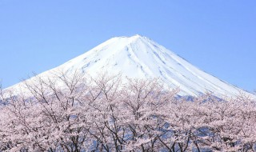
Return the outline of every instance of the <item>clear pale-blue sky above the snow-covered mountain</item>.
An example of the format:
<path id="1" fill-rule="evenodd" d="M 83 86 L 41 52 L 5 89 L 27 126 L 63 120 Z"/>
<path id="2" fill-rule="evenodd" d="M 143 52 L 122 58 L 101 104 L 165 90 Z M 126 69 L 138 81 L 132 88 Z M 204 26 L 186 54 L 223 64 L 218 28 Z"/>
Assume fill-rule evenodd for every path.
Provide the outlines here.
<path id="1" fill-rule="evenodd" d="M 134 34 L 226 82 L 256 89 L 254 0 L 0 0 L 0 79 L 14 85 L 109 38 Z"/>

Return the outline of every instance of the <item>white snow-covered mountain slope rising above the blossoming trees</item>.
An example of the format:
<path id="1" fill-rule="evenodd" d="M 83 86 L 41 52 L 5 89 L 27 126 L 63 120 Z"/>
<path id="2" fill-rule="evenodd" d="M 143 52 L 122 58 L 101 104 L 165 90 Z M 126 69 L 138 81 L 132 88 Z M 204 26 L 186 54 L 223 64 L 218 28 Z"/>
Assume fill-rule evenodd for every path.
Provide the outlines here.
<path id="1" fill-rule="evenodd" d="M 250 94 L 206 74 L 150 38 L 140 35 L 110 38 L 40 76 L 49 75 L 58 68 L 70 72 L 81 70 L 93 76 L 107 71 L 108 74 L 121 73 L 129 78 L 160 78 L 168 86 L 179 87 L 181 95 L 198 95 L 206 91 L 218 97 L 235 96 L 241 92 Z M 17 85 L 10 88 L 15 87 Z"/>

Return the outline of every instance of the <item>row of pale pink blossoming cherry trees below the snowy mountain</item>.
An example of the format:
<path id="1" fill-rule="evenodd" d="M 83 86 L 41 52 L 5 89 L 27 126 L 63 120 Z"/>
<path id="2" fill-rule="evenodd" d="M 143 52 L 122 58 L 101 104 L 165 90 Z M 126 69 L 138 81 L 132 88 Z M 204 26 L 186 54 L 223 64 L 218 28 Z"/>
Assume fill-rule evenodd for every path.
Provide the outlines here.
<path id="1" fill-rule="evenodd" d="M 0 150 L 256 151 L 255 101 L 243 94 L 187 98 L 157 79 L 54 75 L 1 90 Z"/>

